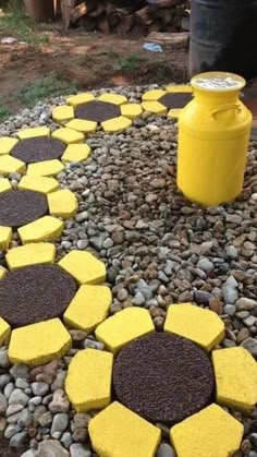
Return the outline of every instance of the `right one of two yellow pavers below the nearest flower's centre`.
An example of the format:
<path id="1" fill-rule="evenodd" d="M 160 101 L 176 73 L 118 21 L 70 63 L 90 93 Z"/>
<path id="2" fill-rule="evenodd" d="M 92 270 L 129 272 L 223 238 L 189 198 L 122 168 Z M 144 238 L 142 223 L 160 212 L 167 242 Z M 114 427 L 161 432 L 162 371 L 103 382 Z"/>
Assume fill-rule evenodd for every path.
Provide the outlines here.
<path id="1" fill-rule="evenodd" d="M 179 457 L 229 457 L 240 448 L 243 424 L 218 405 L 210 405 L 170 431 Z"/>

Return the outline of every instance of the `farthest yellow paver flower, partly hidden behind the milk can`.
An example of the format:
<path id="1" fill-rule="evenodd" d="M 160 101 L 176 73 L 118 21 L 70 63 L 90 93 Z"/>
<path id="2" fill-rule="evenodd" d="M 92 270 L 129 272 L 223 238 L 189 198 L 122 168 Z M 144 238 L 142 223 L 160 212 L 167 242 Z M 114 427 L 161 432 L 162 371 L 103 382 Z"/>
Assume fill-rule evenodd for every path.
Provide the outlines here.
<path id="1" fill-rule="evenodd" d="M 168 118 L 178 118 L 181 109 L 192 100 L 192 91 L 188 85 L 168 86 L 164 91 L 148 91 L 142 97 L 142 106 L 145 111 L 152 112 L 152 115 L 167 115 Z"/>

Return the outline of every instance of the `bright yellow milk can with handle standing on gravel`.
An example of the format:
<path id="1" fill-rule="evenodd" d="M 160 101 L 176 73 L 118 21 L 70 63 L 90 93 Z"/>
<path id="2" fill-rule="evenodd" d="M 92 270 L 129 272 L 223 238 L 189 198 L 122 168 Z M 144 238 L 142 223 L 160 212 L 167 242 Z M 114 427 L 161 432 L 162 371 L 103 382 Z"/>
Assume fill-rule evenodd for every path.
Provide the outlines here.
<path id="1" fill-rule="evenodd" d="M 252 113 L 240 101 L 245 80 L 233 73 L 200 73 L 191 81 L 194 99 L 179 118 L 178 187 L 205 206 L 242 191 Z"/>

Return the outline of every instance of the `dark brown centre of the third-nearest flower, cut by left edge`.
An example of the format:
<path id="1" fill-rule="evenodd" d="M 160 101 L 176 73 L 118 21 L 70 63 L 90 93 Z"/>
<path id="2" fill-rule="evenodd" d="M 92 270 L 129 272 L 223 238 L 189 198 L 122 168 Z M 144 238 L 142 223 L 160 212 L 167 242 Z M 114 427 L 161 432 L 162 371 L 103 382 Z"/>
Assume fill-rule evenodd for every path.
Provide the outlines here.
<path id="1" fill-rule="evenodd" d="M 47 197 L 34 191 L 0 193 L 0 226 L 19 228 L 48 213 Z"/>

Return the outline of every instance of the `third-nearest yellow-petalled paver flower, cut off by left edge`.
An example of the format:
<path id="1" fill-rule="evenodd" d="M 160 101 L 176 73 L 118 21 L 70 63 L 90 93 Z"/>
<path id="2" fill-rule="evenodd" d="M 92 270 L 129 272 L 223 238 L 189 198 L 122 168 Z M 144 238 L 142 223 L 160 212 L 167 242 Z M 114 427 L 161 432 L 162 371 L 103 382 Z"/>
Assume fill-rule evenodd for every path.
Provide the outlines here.
<path id="1" fill-rule="evenodd" d="M 63 230 L 58 217 L 70 219 L 77 207 L 75 194 L 59 190 L 53 178 L 24 176 L 17 190 L 0 179 L 0 250 L 9 249 L 13 230 L 23 244 L 58 239 Z"/>

